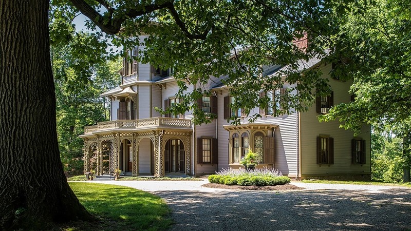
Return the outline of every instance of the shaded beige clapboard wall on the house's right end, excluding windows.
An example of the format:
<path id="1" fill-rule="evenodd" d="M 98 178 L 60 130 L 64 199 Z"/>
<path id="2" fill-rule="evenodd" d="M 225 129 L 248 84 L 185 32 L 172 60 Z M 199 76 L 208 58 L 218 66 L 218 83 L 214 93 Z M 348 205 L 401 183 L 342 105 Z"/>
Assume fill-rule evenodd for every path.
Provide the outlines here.
<path id="1" fill-rule="evenodd" d="M 323 78 L 329 78 L 331 65 L 321 66 Z M 334 92 L 334 105 L 348 103 L 351 94 L 348 92 L 352 82 L 342 82 L 329 78 Z M 339 121 L 320 123 L 317 119 L 315 102 L 309 111 L 301 114 L 301 174 L 315 175 L 347 175 L 370 174 L 370 127 L 364 126 L 358 138 L 366 142 L 366 164 L 351 164 L 351 140 L 353 132 L 339 128 Z M 320 134 L 334 139 L 334 164 L 316 164 L 316 137 Z"/>

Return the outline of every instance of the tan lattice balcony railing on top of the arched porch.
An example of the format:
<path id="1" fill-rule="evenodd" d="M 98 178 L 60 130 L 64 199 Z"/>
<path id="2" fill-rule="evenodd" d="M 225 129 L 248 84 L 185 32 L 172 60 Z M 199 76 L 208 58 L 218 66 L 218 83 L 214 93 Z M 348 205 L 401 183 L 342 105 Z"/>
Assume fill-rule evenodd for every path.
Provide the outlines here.
<path id="1" fill-rule="evenodd" d="M 141 120 L 114 120 L 84 127 L 84 135 L 107 131 L 139 131 L 151 129 L 191 129 L 191 120 L 153 117 Z"/>

